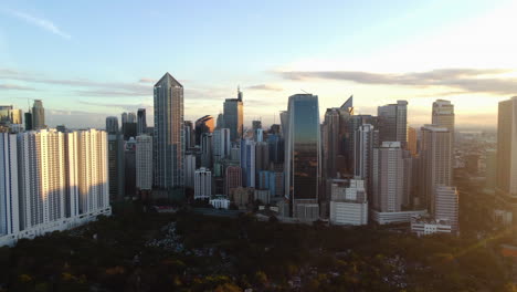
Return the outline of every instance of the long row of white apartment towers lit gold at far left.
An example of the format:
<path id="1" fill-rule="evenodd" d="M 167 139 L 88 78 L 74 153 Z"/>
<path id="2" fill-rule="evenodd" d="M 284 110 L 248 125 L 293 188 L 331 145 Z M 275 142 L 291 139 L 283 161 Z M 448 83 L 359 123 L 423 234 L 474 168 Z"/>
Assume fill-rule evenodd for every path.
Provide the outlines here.
<path id="1" fill-rule="evenodd" d="M 103 131 L 0 134 L 0 164 L 10 160 L 0 170 L 7 178 L 0 182 L 0 233 L 12 233 L 0 236 L 0 246 L 110 215 L 107 157 Z"/>

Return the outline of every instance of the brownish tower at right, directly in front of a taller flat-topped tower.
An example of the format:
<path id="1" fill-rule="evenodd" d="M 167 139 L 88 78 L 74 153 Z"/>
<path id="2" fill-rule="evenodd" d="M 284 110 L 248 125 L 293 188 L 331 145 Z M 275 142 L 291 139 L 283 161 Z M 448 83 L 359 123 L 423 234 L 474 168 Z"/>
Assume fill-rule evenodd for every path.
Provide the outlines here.
<path id="1" fill-rule="evenodd" d="M 436 186 L 452 184 L 451 132 L 434 125 L 423 126 L 420 158 L 422 199 L 434 215 Z"/>

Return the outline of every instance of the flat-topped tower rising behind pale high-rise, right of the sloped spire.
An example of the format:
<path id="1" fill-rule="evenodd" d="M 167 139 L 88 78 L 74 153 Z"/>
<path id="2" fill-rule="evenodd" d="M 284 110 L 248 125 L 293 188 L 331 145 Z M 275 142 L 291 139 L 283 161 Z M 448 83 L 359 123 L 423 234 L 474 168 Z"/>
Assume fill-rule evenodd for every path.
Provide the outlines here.
<path id="1" fill-rule="evenodd" d="M 402 147 L 408 143 L 408 102 L 397 101 L 377 108 L 379 119 L 379 140 L 400 142 Z"/>

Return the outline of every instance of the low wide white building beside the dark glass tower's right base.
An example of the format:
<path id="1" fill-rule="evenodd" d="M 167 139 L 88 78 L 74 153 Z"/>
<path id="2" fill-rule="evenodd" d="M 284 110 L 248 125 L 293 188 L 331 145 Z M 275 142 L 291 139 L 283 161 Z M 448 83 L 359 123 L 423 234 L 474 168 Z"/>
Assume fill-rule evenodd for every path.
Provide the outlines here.
<path id="1" fill-rule="evenodd" d="M 333 179 L 330 222 L 350 226 L 368 223 L 368 200 L 363 180 Z"/>

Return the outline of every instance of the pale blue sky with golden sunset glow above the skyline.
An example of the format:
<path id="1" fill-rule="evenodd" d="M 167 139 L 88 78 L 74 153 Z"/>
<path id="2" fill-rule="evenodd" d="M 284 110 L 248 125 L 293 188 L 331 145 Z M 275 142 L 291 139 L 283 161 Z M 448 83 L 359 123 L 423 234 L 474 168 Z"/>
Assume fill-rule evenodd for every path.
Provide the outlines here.
<path id="1" fill-rule="evenodd" d="M 0 3 L 0 104 L 43 100 L 46 124 L 101 127 L 147 108 L 166 72 L 184 118 L 217 116 L 244 93 L 245 125 L 279 123 L 288 96 L 323 116 L 354 95 L 356 113 L 409 102 L 431 122 L 436 98 L 456 125 L 495 127 L 517 95 L 516 1 L 11 1 Z"/>

